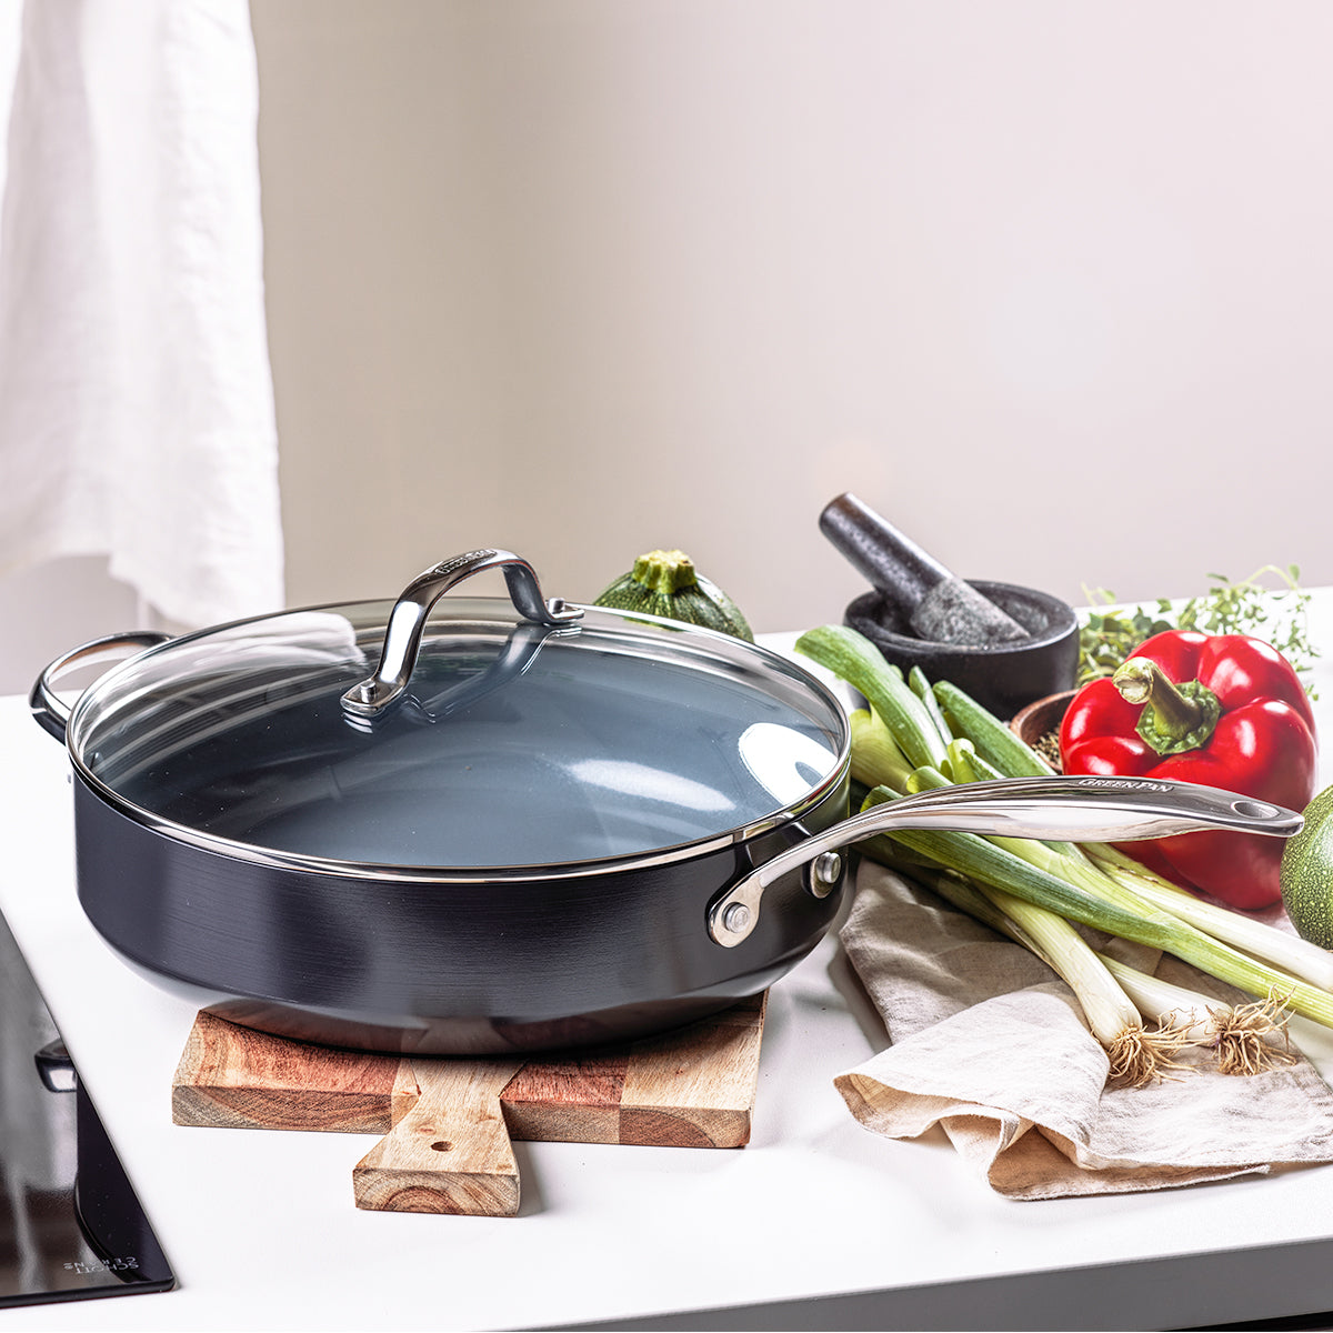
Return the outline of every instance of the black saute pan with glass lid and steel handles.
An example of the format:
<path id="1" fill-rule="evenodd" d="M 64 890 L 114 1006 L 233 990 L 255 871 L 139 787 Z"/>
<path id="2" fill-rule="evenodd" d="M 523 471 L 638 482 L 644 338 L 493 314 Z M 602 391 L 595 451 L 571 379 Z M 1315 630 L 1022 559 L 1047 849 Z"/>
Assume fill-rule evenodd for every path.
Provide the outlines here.
<path id="1" fill-rule="evenodd" d="M 484 569 L 509 600 L 436 608 Z M 107 659 L 68 706 L 57 685 Z M 848 818 L 848 721 L 818 678 L 710 631 L 548 601 L 493 549 L 393 603 L 85 644 L 32 708 L 69 753 L 79 897 L 107 942 L 223 1017 L 372 1050 L 587 1045 L 734 1004 L 818 942 L 841 849 L 878 830 L 1301 822 L 1100 778 Z"/>

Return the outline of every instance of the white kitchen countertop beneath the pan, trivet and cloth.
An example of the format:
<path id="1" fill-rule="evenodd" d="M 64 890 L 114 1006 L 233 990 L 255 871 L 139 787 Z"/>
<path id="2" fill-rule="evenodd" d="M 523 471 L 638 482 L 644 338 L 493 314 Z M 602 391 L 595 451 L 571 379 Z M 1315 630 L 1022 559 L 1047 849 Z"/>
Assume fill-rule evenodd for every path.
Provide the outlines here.
<path id="1" fill-rule="evenodd" d="M 1320 611 L 1333 620 L 1333 595 Z M 1333 736 L 1333 668 L 1321 693 Z M 0 910 L 180 1284 L 0 1310 L 0 1333 L 657 1318 L 645 1326 L 1126 1329 L 1333 1309 L 1333 1168 L 1009 1202 L 942 1136 L 861 1129 L 833 1077 L 884 1038 L 832 938 L 770 993 L 748 1148 L 519 1144 L 515 1218 L 363 1212 L 352 1166 L 373 1136 L 172 1124 L 193 1009 L 87 922 L 69 765 L 21 698 L 0 698 Z M 1293 1032 L 1333 1073 L 1333 1034 Z"/>

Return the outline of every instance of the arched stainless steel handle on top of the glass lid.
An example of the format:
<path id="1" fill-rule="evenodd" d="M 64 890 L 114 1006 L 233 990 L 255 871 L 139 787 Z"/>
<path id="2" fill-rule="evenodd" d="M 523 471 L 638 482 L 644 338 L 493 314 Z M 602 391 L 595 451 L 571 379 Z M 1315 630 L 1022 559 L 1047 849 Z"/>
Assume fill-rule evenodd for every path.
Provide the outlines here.
<path id="1" fill-rule="evenodd" d="M 347 713 L 353 717 L 375 717 L 407 689 L 417 653 L 421 651 L 421 632 L 431 608 L 455 584 L 484 569 L 504 571 L 509 600 L 525 620 L 539 625 L 559 627 L 583 616 L 581 608 L 569 607 L 560 597 L 544 600 L 532 565 L 512 551 L 485 548 L 453 556 L 417 575 L 403 589 L 389 613 L 380 665 L 369 680 L 353 685 L 343 696 L 343 708 Z"/>

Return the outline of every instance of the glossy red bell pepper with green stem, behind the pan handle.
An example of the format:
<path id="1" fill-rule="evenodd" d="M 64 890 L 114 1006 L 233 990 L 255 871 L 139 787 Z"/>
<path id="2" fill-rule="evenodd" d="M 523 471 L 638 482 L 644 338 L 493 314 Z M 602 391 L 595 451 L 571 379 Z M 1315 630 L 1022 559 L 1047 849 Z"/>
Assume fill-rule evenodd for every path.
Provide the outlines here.
<path id="1" fill-rule="evenodd" d="M 1072 774 L 1201 782 L 1302 810 L 1314 796 L 1314 713 L 1290 664 L 1262 640 L 1168 631 L 1074 696 L 1060 757 Z M 1201 830 L 1122 849 L 1234 908 L 1281 897 L 1281 838 Z"/>

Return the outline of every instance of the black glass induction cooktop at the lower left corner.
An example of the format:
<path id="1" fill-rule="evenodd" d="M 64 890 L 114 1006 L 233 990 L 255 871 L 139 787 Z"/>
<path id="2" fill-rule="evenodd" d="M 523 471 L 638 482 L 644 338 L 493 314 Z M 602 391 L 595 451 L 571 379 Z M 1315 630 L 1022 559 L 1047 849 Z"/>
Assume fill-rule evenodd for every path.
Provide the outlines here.
<path id="1" fill-rule="evenodd" d="M 0 1306 L 175 1285 L 0 916 Z"/>

